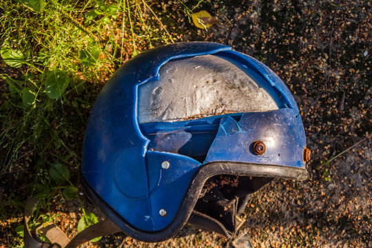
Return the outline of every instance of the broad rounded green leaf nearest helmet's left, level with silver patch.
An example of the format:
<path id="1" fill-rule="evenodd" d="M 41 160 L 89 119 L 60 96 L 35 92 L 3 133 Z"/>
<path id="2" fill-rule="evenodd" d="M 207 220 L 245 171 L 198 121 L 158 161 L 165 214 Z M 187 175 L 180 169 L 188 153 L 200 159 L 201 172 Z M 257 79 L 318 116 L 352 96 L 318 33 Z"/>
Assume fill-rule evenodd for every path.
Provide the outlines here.
<path id="1" fill-rule="evenodd" d="M 45 92 L 50 99 L 59 98 L 68 87 L 70 78 L 66 72 L 59 70 L 50 72 L 45 79 Z"/>

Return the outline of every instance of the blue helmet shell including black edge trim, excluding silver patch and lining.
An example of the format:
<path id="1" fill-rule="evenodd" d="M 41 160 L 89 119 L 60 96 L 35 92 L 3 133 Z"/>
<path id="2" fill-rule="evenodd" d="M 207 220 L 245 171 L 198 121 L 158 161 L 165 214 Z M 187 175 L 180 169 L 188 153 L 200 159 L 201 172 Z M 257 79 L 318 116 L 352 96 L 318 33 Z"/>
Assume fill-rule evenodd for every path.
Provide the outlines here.
<path id="1" fill-rule="evenodd" d="M 254 75 L 278 99 L 278 110 L 139 123 L 138 87 L 159 80 L 159 70 L 168 61 L 208 54 Z M 147 135 L 202 127 L 214 130 L 211 136 L 196 135 L 193 140 L 207 151 L 204 161 L 172 152 L 178 141 L 190 140 L 191 131 L 167 137 L 169 149 L 157 148 L 164 146 Z M 254 141 L 265 143 L 265 154 L 252 152 Z M 227 45 L 174 43 L 135 56 L 105 84 L 85 130 L 81 171 L 88 194 L 118 227 L 134 238 L 155 242 L 170 238 L 185 225 L 203 182 L 214 174 L 303 179 L 304 147 L 296 102 L 266 65 Z"/>

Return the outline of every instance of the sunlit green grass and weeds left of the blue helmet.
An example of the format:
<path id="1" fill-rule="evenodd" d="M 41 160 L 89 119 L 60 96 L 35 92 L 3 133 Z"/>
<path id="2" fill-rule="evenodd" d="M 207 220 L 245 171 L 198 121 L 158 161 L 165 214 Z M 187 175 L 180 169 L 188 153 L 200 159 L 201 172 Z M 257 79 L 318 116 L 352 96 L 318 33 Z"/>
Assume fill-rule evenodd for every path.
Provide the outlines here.
<path id="1" fill-rule="evenodd" d="M 103 83 L 132 56 L 173 42 L 148 1 L 21 2 L 0 4 L 1 221 L 23 216 L 26 196 L 46 216 L 53 199 L 79 197 L 85 124 Z M 56 164 L 71 176 L 56 180 Z"/>

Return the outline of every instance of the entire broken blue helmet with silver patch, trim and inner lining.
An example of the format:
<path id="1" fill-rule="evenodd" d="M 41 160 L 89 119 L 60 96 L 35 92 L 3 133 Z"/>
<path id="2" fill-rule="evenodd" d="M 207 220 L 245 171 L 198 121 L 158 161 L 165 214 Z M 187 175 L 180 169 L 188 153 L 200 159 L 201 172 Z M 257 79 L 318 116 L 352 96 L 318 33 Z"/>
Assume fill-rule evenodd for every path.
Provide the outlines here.
<path id="1" fill-rule="evenodd" d="M 304 180 L 310 158 L 296 102 L 266 65 L 227 45 L 174 43 L 119 68 L 83 145 L 83 186 L 125 234 L 171 238 L 190 223 L 229 238 L 249 196 Z"/>

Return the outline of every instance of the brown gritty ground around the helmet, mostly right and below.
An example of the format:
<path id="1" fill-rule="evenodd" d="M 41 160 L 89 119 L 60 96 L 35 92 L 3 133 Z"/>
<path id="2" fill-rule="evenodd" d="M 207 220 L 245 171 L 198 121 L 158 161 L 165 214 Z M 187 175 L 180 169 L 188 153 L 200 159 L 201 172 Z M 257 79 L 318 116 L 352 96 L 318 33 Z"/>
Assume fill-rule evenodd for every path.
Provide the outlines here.
<path id="1" fill-rule="evenodd" d="M 196 3 L 185 4 L 191 7 Z M 307 165 L 309 177 L 302 182 L 274 180 L 257 192 L 247 205 L 247 222 L 239 235 L 247 232 L 254 247 L 372 247 L 371 138 L 325 163 L 372 131 L 371 2 L 205 1 L 194 11 L 207 10 L 218 19 L 208 30 L 198 30 L 189 23 L 178 1 L 153 4 L 152 8 L 176 41 L 225 43 L 268 65 L 287 84 L 300 108 L 307 146 L 312 151 Z M 120 30 L 120 23 L 116 28 Z M 138 48 L 145 50 L 146 45 Z M 118 64 L 113 66 L 117 68 Z M 1 61 L 0 74 L 17 79 L 20 70 Z M 8 85 L 5 81 L 0 85 L 0 104 L 4 104 L 8 101 Z M 101 87 L 96 85 L 98 90 Z M 94 96 L 88 101 L 94 101 Z M 76 132 L 78 145 L 71 148 L 76 154 L 81 154 L 89 110 L 83 113 L 76 124 L 81 125 Z M 20 121 L 22 118 L 20 114 Z M 0 140 L 0 152 L 8 154 L 5 141 L 4 137 Z M 28 153 L 32 147 L 25 145 L 22 149 Z M 77 172 L 77 168 L 72 170 Z M 21 244 L 14 228 L 21 225 L 22 209 L 14 207 L 21 206 L 14 201 L 25 200 L 33 173 L 30 169 L 1 175 L 0 200 L 4 207 L 0 247 Z M 72 180 L 81 188 L 77 176 Z M 85 196 L 81 198 L 87 210 L 99 216 Z M 60 214 L 55 223 L 70 236 L 76 233 L 81 216 L 78 200 L 54 196 L 50 213 Z M 231 247 L 226 238 L 189 226 L 158 244 L 118 235 L 88 246 Z"/>

